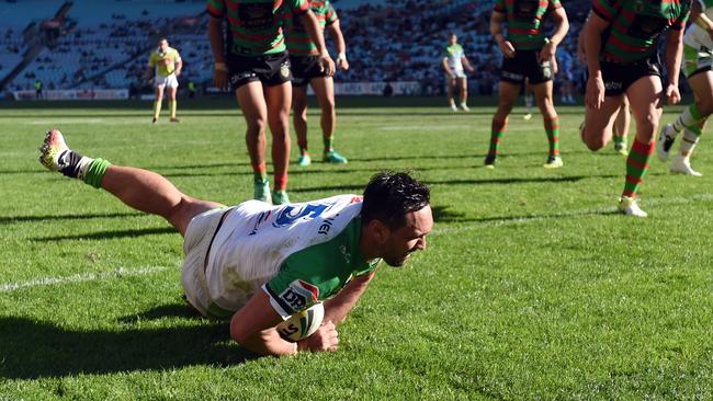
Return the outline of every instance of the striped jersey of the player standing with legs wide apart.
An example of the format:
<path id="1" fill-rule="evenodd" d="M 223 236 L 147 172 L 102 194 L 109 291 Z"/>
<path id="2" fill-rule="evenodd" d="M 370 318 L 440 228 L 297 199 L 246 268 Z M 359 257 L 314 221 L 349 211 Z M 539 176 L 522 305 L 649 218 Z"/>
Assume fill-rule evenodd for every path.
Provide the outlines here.
<path id="1" fill-rule="evenodd" d="M 494 11 L 506 14 L 507 38 L 516 50 L 539 50 L 546 43 L 542 24 L 550 11 L 559 8 L 559 0 L 495 0 Z"/>

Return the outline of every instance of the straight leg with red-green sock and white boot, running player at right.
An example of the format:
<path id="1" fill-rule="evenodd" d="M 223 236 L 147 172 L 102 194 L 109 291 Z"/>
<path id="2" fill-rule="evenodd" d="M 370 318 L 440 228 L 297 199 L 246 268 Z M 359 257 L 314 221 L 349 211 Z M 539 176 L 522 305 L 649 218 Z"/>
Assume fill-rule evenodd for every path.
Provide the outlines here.
<path id="1" fill-rule="evenodd" d="M 636 122 L 636 136 L 626 158 L 626 180 L 619 205 L 626 215 L 646 217 L 646 213 L 638 208 L 635 199 L 654 153 L 654 133 L 663 113 L 661 94 L 661 79 L 657 76 L 640 78 L 626 90 Z"/>

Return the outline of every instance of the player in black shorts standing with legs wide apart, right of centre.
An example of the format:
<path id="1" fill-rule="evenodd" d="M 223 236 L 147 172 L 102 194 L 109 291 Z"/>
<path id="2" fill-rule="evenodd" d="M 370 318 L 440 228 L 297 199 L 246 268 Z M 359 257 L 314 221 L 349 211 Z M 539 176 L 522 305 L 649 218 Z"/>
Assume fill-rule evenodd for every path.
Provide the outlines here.
<path id="1" fill-rule="evenodd" d="M 546 15 L 552 15 L 556 23 L 550 38 L 545 37 L 542 26 Z M 508 23 L 507 37 L 502 34 L 503 22 Z M 555 51 L 568 28 L 567 14 L 559 0 L 495 1 L 490 33 L 502 53 L 503 61 L 498 110 L 493 117 L 490 149 L 485 158 L 486 168 L 495 167 L 508 115 L 525 78 L 535 94 L 550 141 L 550 156 L 544 168 L 557 169 L 563 165 L 559 157 L 559 117 L 553 103 L 552 78 L 556 68 Z"/>

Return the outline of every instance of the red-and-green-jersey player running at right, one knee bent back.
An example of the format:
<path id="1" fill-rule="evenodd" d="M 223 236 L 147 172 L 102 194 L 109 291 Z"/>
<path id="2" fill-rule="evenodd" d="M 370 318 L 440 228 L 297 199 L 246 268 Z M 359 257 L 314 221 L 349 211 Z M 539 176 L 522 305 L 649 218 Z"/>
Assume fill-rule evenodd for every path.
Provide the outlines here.
<path id="1" fill-rule="evenodd" d="M 619 210 L 627 216 L 646 217 L 636 203 L 636 193 L 654 152 L 661 94 L 666 94 L 669 104 L 680 101 L 678 73 L 690 1 L 593 0 L 592 9 L 585 25 L 589 79 L 581 137 L 591 150 L 604 147 L 612 137 L 612 125 L 623 98 L 629 98 L 636 121 L 636 137 L 626 159 L 626 180 Z M 658 38 L 664 33 L 667 36 L 666 88 L 658 57 Z"/>

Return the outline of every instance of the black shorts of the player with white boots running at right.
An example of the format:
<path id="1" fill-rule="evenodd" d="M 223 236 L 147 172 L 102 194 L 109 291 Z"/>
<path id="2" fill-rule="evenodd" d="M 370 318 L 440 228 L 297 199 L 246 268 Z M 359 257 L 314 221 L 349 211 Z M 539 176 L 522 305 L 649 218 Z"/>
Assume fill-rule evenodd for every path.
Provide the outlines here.
<path id="1" fill-rule="evenodd" d="M 601 77 L 604 81 L 604 95 L 618 96 L 625 93 L 632 83 L 648 76 L 661 77 L 661 64 L 658 56 L 632 62 L 619 64 L 600 61 Z"/>

